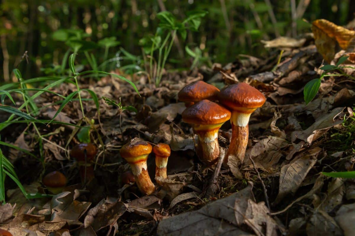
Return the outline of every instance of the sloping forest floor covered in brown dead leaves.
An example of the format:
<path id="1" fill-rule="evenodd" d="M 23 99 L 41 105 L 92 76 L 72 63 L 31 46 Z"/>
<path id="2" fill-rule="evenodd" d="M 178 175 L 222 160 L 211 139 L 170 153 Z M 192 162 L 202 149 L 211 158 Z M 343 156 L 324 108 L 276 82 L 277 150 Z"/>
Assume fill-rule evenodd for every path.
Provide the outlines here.
<path id="1" fill-rule="evenodd" d="M 280 63 L 280 50 L 273 49 L 266 59 L 240 55 L 224 67 L 214 64 L 213 68 L 168 72 L 160 87 L 149 84 L 145 75 L 135 75 L 130 79 L 140 95 L 112 76 L 98 81 L 79 78 L 82 89 L 89 88 L 99 97 L 121 99 L 137 113 L 120 113 L 103 99 L 98 111 L 92 100 L 85 100 L 90 94 L 82 91 L 84 113 L 95 124 L 92 142 L 99 150 L 95 179 L 85 186 L 80 184 L 76 162 L 69 155 L 78 143 L 77 129 L 55 123 L 38 125 L 40 133 L 48 134 L 48 142 L 43 142 L 45 173 L 64 173 L 67 187 L 52 199 L 27 200 L 7 179 L 7 204 L 0 206 L 0 228 L 13 235 L 350 235 L 354 230 L 348 220 L 355 216 L 354 179 L 327 177 L 321 172 L 354 169 L 355 81 L 345 75 L 323 77 L 318 95 L 306 105 L 304 86 L 320 77 L 324 62 L 313 39 L 305 40 L 302 47 L 278 45 L 284 50 Z M 345 74 L 353 73 L 345 69 Z M 114 73 L 130 77 L 121 71 Z M 222 167 L 219 188 L 212 196 L 206 196 L 206 189 L 215 165 L 208 167 L 198 160 L 196 137 L 182 121 L 185 107 L 177 99 L 181 88 L 198 80 L 219 88 L 247 82 L 267 98 L 251 116 L 240 175 Z M 75 90 L 73 84 L 61 84 L 53 91 L 67 96 Z M 60 99 L 43 93 L 35 102 L 45 105 Z M 58 108 L 48 106 L 37 118 L 52 118 Z M 1 114 L 1 120 L 6 119 Z M 68 103 L 56 120 L 83 125 L 80 103 Z M 38 156 L 35 134 L 31 124 L 22 123 L 8 126 L 1 137 Z M 218 136 L 221 150 L 228 149 L 230 136 L 231 125 L 226 122 Z M 165 190 L 157 188 L 154 194 L 142 196 L 135 184 L 121 183 L 120 175 L 129 165 L 119 150 L 135 137 L 170 144 L 170 180 Z M 37 159 L 11 148 L 2 151 L 14 163 L 27 192 L 47 193 L 41 183 L 43 167 Z M 152 154 L 148 172 L 153 182 L 154 170 Z"/>

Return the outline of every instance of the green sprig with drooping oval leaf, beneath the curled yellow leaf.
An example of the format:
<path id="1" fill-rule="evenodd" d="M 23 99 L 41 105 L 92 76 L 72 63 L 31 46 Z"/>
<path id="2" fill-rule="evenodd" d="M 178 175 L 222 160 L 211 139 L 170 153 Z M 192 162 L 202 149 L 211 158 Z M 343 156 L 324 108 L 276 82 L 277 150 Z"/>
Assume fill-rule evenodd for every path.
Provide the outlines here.
<path id="1" fill-rule="evenodd" d="M 336 65 L 324 65 L 323 67 L 321 67 L 320 69 L 324 70 L 324 72 L 321 74 L 321 77 L 318 78 L 318 79 L 313 79 L 311 81 L 309 81 L 305 87 L 304 87 L 304 90 L 303 90 L 303 94 L 304 94 L 304 100 L 306 102 L 306 105 L 308 103 L 310 103 L 313 98 L 316 97 L 317 93 L 318 93 L 318 90 L 321 86 L 321 81 L 323 79 L 323 77 L 328 77 L 328 76 L 347 76 L 353 80 L 355 80 L 355 78 L 351 75 L 347 75 L 345 74 L 341 69 L 342 68 L 353 68 L 355 69 L 354 67 L 349 67 L 349 66 L 340 66 L 340 64 L 342 64 L 343 62 L 346 61 L 346 59 L 348 59 L 348 56 L 343 56 L 343 57 L 340 57 L 337 64 Z M 328 74 L 330 71 L 333 71 L 333 70 L 337 70 L 339 71 L 340 74 Z"/>

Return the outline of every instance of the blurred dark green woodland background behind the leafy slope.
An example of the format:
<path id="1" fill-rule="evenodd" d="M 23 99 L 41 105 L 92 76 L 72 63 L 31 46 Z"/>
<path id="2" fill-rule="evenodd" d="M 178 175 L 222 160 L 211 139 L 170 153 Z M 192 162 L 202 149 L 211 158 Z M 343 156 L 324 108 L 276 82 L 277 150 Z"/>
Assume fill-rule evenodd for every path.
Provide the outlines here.
<path id="1" fill-rule="evenodd" d="M 202 64 L 208 65 L 232 62 L 240 53 L 267 56 L 261 39 L 310 32 L 310 22 L 318 18 L 345 25 L 354 18 L 355 1 L 0 0 L 0 82 L 11 81 L 16 67 L 26 79 L 56 74 L 64 55 L 75 47 L 68 43 L 71 37 L 88 42 L 76 58 L 82 67 L 93 64 L 91 59 L 102 63 L 107 57 L 111 61 L 106 70 L 124 65 L 131 65 L 130 69 L 137 65 L 140 70 L 140 40 L 154 35 L 159 24 L 156 15 L 162 10 L 179 20 L 191 10 L 208 11 L 198 31 L 188 31 L 186 39 L 178 37 L 172 47 L 170 68 L 189 68 L 193 58 L 186 46 L 192 51 L 199 48 Z M 103 41 L 97 44 L 107 37 L 116 37 L 111 38 L 111 47 L 102 46 Z M 22 57 L 25 51 L 28 63 Z"/>

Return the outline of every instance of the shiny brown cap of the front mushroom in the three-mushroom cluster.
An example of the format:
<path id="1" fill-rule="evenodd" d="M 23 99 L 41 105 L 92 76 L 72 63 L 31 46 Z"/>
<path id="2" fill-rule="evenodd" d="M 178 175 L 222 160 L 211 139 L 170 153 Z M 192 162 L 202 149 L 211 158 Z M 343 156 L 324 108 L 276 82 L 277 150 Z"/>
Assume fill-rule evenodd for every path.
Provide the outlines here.
<path id="1" fill-rule="evenodd" d="M 214 125 L 230 119 L 230 111 L 217 103 L 202 100 L 182 112 L 182 120 L 198 125 Z"/>

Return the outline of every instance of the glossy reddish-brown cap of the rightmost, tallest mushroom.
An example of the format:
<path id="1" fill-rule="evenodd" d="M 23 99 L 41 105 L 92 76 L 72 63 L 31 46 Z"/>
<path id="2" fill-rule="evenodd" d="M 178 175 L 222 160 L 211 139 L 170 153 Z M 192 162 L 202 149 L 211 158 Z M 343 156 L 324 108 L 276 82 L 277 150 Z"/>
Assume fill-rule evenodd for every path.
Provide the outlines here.
<path id="1" fill-rule="evenodd" d="M 227 107 L 237 110 L 238 108 L 259 108 L 265 103 L 265 96 L 256 88 L 238 83 L 223 88 L 218 93 L 218 100 Z"/>

